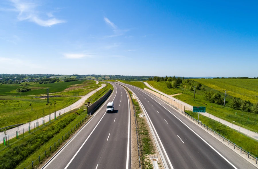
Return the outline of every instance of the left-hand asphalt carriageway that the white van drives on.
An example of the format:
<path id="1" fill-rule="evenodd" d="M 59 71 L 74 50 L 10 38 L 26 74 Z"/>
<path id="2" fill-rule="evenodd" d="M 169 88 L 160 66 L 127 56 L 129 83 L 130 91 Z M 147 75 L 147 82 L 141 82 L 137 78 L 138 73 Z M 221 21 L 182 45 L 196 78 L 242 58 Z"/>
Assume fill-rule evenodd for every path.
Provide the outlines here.
<path id="1" fill-rule="evenodd" d="M 113 169 L 131 166 L 129 98 L 125 89 L 112 83 L 114 91 L 94 117 L 43 168 Z M 114 101 L 114 113 L 106 113 Z"/>

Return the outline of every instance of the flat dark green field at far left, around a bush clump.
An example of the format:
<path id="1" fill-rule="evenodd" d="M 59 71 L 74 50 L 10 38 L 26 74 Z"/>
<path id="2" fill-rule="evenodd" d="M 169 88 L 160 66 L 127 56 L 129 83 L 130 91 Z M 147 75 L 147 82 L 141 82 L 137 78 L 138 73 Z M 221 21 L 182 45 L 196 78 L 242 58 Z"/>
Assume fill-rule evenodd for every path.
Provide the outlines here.
<path id="1" fill-rule="evenodd" d="M 22 83 L 25 84 L 26 82 Z M 55 82 L 55 83 L 48 83 L 48 84 L 38 84 L 35 82 L 27 82 L 28 88 L 31 88 L 31 91 L 28 92 L 20 92 L 17 93 L 17 88 L 22 88 L 19 86 L 19 84 L 2 84 L 0 85 L 0 95 L 1 96 L 7 96 L 7 95 L 21 95 L 21 96 L 27 96 L 27 95 L 42 95 L 46 94 L 46 89 L 49 88 L 49 93 L 56 93 L 61 92 L 64 89 L 67 89 L 69 86 L 77 85 L 77 84 L 93 84 L 96 83 L 93 80 L 78 80 L 78 81 L 72 81 L 72 82 Z"/>

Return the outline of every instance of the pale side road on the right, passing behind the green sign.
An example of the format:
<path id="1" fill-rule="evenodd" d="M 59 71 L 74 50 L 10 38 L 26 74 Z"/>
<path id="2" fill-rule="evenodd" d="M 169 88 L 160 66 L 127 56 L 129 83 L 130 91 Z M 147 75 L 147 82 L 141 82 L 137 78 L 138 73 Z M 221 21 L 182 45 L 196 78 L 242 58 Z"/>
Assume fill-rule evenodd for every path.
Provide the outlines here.
<path id="1" fill-rule="evenodd" d="M 171 97 L 171 96 L 169 96 L 169 95 L 167 95 L 167 94 L 165 94 L 165 93 L 155 89 L 154 87 L 150 86 L 150 84 L 148 84 L 147 82 L 144 82 L 144 84 L 148 88 L 150 88 L 150 89 L 160 93 L 161 95 L 164 95 L 164 96 L 166 96 L 166 97 L 168 97 L 170 99 L 173 99 L 173 100 L 177 101 L 178 103 L 181 103 L 182 105 L 185 105 L 186 107 L 189 107 L 189 108 L 193 109 L 193 106 L 191 106 L 191 105 L 189 105 L 189 104 L 187 104 L 187 103 L 185 103 L 185 102 L 183 102 L 181 100 L 178 100 L 178 99 L 176 99 L 174 97 Z M 204 115 L 206 117 L 209 117 L 209 118 L 211 118 L 213 120 L 216 120 L 216 121 L 218 121 L 218 122 L 220 122 L 220 123 L 222 123 L 224 125 L 227 125 L 228 127 L 231 127 L 232 129 L 235 129 L 235 130 L 237 130 L 237 131 L 239 131 L 239 132 L 241 132 L 241 133 L 243 133 L 245 135 L 248 135 L 249 137 L 252 137 L 252 138 L 258 140 L 258 133 L 256 133 L 256 132 L 250 131 L 250 130 L 244 128 L 244 127 L 240 127 L 239 125 L 232 124 L 232 123 L 230 123 L 230 122 L 228 122 L 226 120 L 220 119 L 219 117 L 216 117 L 216 116 L 214 116 L 214 115 L 212 115 L 210 113 L 207 113 L 207 112 L 206 113 L 200 113 L 200 114 L 202 114 L 202 115 Z"/>

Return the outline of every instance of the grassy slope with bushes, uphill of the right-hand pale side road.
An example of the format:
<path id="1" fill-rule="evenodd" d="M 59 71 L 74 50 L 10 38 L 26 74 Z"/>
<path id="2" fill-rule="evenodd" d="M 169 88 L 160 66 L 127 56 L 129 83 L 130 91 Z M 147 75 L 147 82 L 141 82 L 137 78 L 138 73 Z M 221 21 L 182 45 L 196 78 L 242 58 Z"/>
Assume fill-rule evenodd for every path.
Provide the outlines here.
<path id="1" fill-rule="evenodd" d="M 147 82 L 149 84 L 151 84 L 152 81 L 147 81 Z M 179 89 L 173 89 L 173 88 L 168 89 L 167 86 L 161 85 L 160 83 L 164 83 L 164 82 L 154 81 L 153 84 L 159 85 L 158 90 L 162 91 L 163 93 L 170 95 L 175 90 L 178 90 L 178 91 L 183 90 L 183 92 L 180 92 L 180 93 L 182 93 L 181 95 L 177 95 L 174 97 L 189 104 L 189 105 L 192 105 L 192 106 L 205 106 L 206 112 L 208 112 L 216 117 L 219 117 L 219 118 L 224 119 L 229 122 L 235 121 L 232 123 L 239 125 L 241 127 L 244 127 L 246 129 L 249 129 L 251 131 L 258 132 L 258 125 L 257 125 L 258 121 L 255 120 L 255 114 L 240 111 L 240 110 L 234 110 L 229 107 L 229 103 L 233 99 L 232 96 L 228 95 L 226 97 L 225 107 L 223 105 L 217 105 L 215 103 L 210 103 L 204 97 L 204 94 L 208 91 L 213 91 L 214 93 L 220 93 L 220 95 L 223 97 L 224 96 L 224 93 L 222 93 L 223 91 L 217 91 L 215 89 L 212 89 L 208 86 L 203 85 L 205 87 L 205 91 L 204 90 L 200 90 L 200 91 L 196 90 L 195 99 L 193 99 L 193 91 L 190 90 L 190 87 L 192 84 L 194 86 L 196 86 L 198 84 L 198 82 L 196 82 L 196 79 L 194 79 L 194 81 L 190 80 L 189 83 L 186 83 L 186 80 L 183 80 L 182 84 L 180 84 L 180 86 L 178 87 Z M 183 87 L 183 89 L 181 89 L 182 87 Z M 169 91 L 171 91 L 171 92 L 169 92 Z M 248 120 L 248 117 L 249 117 L 249 120 Z"/>

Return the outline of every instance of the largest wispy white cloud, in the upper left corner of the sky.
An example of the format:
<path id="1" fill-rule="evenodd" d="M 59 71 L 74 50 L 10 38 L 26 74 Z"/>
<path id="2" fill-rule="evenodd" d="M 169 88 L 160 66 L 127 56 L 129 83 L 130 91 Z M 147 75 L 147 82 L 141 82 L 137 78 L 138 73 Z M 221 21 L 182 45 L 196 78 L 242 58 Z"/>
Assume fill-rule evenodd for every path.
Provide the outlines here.
<path id="1" fill-rule="evenodd" d="M 39 3 L 34 3 L 32 1 L 20 1 L 20 0 L 9 0 L 12 2 L 14 9 L 6 9 L 9 11 L 18 12 L 17 19 L 19 21 L 28 20 L 34 22 L 40 26 L 52 26 L 58 23 L 64 23 L 65 20 L 54 18 L 52 13 L 46 13 L 48 17 L 53 17 L 51 19 L 42 19 L 39 17 L 39 10 L 37 7 L 40 6 Z"/>

